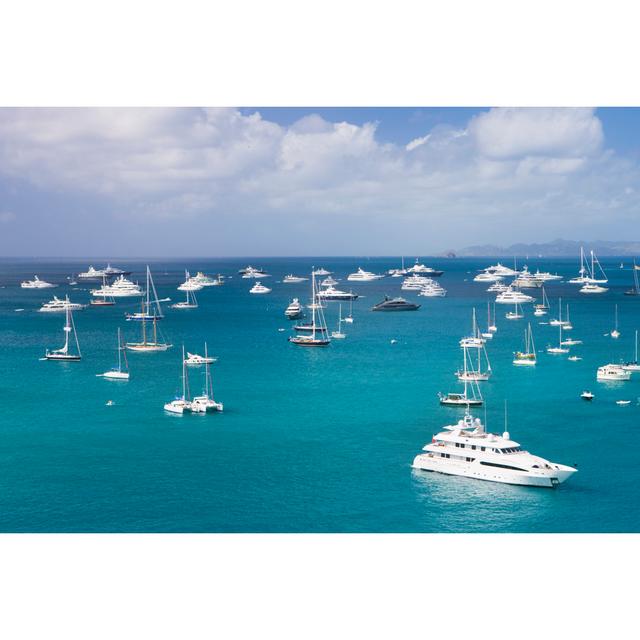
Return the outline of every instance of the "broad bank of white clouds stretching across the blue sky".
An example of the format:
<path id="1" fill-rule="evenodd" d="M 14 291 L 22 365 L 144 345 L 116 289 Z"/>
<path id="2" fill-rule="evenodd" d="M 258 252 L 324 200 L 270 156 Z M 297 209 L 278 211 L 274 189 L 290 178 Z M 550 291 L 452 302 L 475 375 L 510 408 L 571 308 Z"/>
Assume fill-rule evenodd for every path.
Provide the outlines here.
<path id="1" fill-rule="evenodd" d="M 313 114 L 284 127 L 236 109 L 1 109 L 0 176 L 132 216 L 368 216 L 441 225 L 452 246 L 505 216 L 553 235 L 640 204 L 638 167 L 605 149 L 592 109 L 491 109 L 406 145 Z"/>

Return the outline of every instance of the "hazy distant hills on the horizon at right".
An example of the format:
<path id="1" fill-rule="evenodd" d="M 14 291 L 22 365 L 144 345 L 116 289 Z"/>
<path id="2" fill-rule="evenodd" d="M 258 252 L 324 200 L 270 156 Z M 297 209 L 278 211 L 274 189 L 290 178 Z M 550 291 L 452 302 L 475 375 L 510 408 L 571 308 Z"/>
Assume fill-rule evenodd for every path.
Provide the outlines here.
<path id="1" fill-rule="evenodd" d="M 564 257 L 576 256 L 580 253 L 580 247 L 586 252 L 593 249 L 599 256 L 640 256 L 640 241 L 606 241 L 596 240 L 553 240 L 540 244 L 512 244 L 509 247 L 498 247 L 492 244 L 476 245 L 456 251 L 459 257 L 473 256 L 543 256 Z"/>

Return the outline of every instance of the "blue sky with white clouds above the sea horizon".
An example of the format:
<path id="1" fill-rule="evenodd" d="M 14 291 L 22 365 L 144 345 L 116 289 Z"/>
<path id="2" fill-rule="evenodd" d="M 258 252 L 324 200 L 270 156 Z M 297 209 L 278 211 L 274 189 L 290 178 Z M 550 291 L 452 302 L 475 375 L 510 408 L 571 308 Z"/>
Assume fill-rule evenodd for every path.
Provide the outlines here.
<path id="1" fill-rule="evenodd" d="M 1 108 L 0 255 L 637 240 L 640 109 Z"/>

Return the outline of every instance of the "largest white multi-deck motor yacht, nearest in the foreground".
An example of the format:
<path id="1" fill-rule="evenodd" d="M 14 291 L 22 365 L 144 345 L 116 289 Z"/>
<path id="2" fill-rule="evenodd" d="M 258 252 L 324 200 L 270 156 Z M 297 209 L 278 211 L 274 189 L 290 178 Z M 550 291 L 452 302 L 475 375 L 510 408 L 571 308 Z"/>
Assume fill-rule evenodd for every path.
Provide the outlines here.
<path id="1" fill-rule="evenodd" d="M 469 413 L 436 433 L 422 450 L 414 469 L 491 482 L 554 488 L 577 471 L 524 451 L 508 431 L 487 433 Z"/>

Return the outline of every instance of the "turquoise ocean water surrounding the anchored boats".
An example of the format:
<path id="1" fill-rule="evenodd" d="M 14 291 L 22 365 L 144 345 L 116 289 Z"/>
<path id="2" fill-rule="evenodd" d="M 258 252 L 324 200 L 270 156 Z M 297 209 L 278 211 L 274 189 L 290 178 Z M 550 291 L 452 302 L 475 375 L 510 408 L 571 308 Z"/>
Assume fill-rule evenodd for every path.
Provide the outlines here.
<path id="1" fill-rule="evenodd" d="M 588 297 L 576 285 L 550 283 L 548 316 L 525 305 L 525 320 L 508 321 L 496 305 L 498 332 L 487 345 L 494 375 L 482 383 L 488 428 L 509 431 L 532 453 L 577 464 L 557 490 L 481 482 L 411 469 L 414 456 L 462 412 L 441 407 L 438 391 L 461 388 L 458 340 L 471 310 L 486 327 L 487 284 L 471 282 L 495 260 L 429 259 L 442 268 L 446 298 L 417 298 L 412 313 L 372 313 L 402 280 L 349 283 L 362 297 L 353 305 L 347 338 L 326 349 L 287 342 L 283 311 L 293 296 L 305 301 L 309 283 L 282 284 L 287 273 L 323 266 L 344 279 L 358 266 L 383 272 L 389 258 L 282 258 L 148 261 L 159 296 L 182 299 L 184 269 L 222 273 L 222 287 L 198 292 L 199 308 L 166 310 L 162 330 L 174 348 L 128 353 L 131 380 L 96 377 L 116 362 L 116 330 L 139 335 L 115 307 L 75 314 L 83 352 L 79 363 L 43 362 L 45 348 L 62 345 L 64 317 L 37 313 L 53 294 L 88 302 L 94 284 L 69 287 L 66 278 L 88 263 L 0 261 L 0 530 L 4 532 L 637 532 L 640 508 L 640 374 L 626 383 L 596 382 L 596 368 L 633 358 L 640 298 L 630 260 L 605 259 L 611 289 Z M 272 277 L 269 295 L 249 295 L 253 280 L 237 270 L 251 263 Z M 147 261 L 122 261 L 144 282 Z M 530 260 L 532 270 L 572 277 L 577 260 Z M 24 290 L 34 274 L 58 289 Z M 230 277 L 229 277 L 230 276 Z M 344 281 L 340 283 L 341 286 Z M 534 294 L 536 295 L 536 294 Z M 539 354 L 535 368 L 511 364 L 532 322 L 539 351 L 557 342 L 557 328 L 540 325 L 570 304 L 572 336 L 582 356 Z M 618 340 L 608 335 L 619 306 Z M 24 309 L 24 311 L 16 311 Z M 343 313 L 347 312 L 343 305 Z M 338 303 L 326 311 L 335 328 Z M 281 332 L 279 329 L 287 331 Z M 392 343 L 391 340 L 396 340 Z M 181 345 L 218 357 L 213 365 L 222 414 L 168 415 L 164 402 L 180 387 Z M 201 372 L 190 370 L 192 390 Z M 591 389 L 592 403 L 579 394 Z M 628 406 L 618 399 L 632 400 Z M 113 400 L 113 406 L 106 406 Z M 475 412 L 484 418 L 484 409 Z"/>

